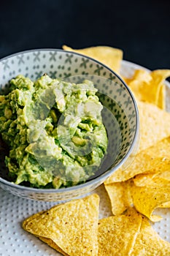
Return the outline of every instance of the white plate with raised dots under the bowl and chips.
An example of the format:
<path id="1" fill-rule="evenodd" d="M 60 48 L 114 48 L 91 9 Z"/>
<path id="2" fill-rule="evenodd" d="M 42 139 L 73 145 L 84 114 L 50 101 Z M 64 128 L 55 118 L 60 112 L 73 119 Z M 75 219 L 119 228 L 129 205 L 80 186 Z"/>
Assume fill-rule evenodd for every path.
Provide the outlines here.
<path id="1" fill-rule="evenodd" d="M 128 61 L 122 62 L 121 75 L 129 77 L 133 75 L 134 69 L 141 69 L 139 65 L 133 64 Z M 170 112 L 170 87 L 167 86 L 167 101 L 166 108 Z M 100 214 L 99 218 L 109 217 L 112 215 L 111 207 L 109 203 L 109 197 L 101 185 L 98 189 L 95 189 L 100 200 Z M 27 200 L 15 195 L 11 195 L 0 189 L 0 256 L 52 256 L 61 255 L 47 246 L 45 243 L 34 237 L 30 233 L 27 233 L 21 227 L 23 219 L 29 217 L 31 214 L 35 214 L 38 211 L 46 210 L 55 205 L 52 202 L 41 202 L 34 200 Z M 161 222 L 156 222 L 153 227 L 158 234 L 166 241 L 170 242 L 170 209 L 158 209 L 155 211 L 163 217 Z"/>

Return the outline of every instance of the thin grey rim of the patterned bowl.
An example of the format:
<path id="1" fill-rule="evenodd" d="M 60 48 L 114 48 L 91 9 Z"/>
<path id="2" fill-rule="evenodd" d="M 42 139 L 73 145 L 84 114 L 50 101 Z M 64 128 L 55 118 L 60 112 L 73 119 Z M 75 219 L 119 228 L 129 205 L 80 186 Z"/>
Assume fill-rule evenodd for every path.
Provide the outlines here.
<path id="1" fill-rule="evenodd" d="M 85 189 L 85 187 L 88 187 L 90 185 L 95 185 L 98 184 L 100 182 L 100 184 L 102 182 L 104 182 L 109 176 L 112 175 L 112 173 L 115 172 L 115 170 L 117 170 L 118 168 L 120 168 L 123 163 L 128 159 L 128 157 L 131 155 L 131 153 L 134 151 L 134 148 L 136 146 L 136 143 L 139 139 L 139 110 L 136 104 L 136 100 L 134 99 L 134 95 L 131 92 L 131 89 L 128 88 L 128 86 L 126 85 L 125 81 L 123 81 L 123 79 L 120 77 L 120 75 L 118 75 L 115 71 L 113 71 L 112 69 L 110 69 L 109 67 L 107 67 L 107 65 L 101 63 L 100 61 L 97 61 L 96 59 L 93 59 L 91 57 L 85 56 L 82 53 L 75 53 L 72 52 L 70 50 L 62 50 L 62 49 L 58 49 L 58 48 L 34 48 L 34 49 L 30 49 L 30 50 L 22 50 L 22 51 L 18 51 L 17 53 L 12 53 L 8 56 L 4 56 L 2 59 L 0 59 L 0 62 L 7 60 L 9 58 L 12 58 L 14 56 L 18 56 L 20 54 L 24 54 L 24 53 L 33 53 L 36 51 L 55 51 L 55 52 L 65 52 L 65 53 L 70 53 L 76 56 L 82 56 L 83 58 L 86 59 L 90 59 L 91 61 L 96 62 L 97 64 L 105 67 L 106 69 L 109 70 L 109 72 L 112 72 L 119 80 L 121 83 L 123 83 L 123 86 L 125 86 L 125 89 L 128 91 L 128 94 L 131 97 L 132 102 L 134 103 L 134 110 L 135 110 L 135 114 L 136 114 L 136 129 L 134 132 L 134 139 L 131 142 L 131 146 L 128 149 L 128 152 L 125 154 L 125 157 L 123 157 L 123 159 L 120 160 L 120 162 L 115 166 L 115 167 L 111 167 L 108 170 L 106 170 L 104 173 L 102 173 L 101 175 L 97 176 L 96 178 L 90 180 L 90 181 L 85 181 L 85 183 L 83 184 L 78 184 L 72 187 L 66 187 L 66 188 L 61 188 L 61 189 L 38 189 L 38 188 L 32 188 L 32 187 L 24 187 L 24 186 L 20 186 L 18 184 L 14 184 L 11 181 L 6 181 L 4 178 L 1 178 L 0 176 L 0 183 L 4 184 L 4 185 L 8 185 L 9 187 L 12 187 L 14 189 L 20 189 L 20 190 L 24 190 L 24 191 L 28 191 L 28 192 L 34 192 L 34 193 L 44 193 L 44 194 L 60 194 L 62 192 L 66 193 L 66 192 L 72 192 L 74 190 L 78 190 L 78 189 Z"/>

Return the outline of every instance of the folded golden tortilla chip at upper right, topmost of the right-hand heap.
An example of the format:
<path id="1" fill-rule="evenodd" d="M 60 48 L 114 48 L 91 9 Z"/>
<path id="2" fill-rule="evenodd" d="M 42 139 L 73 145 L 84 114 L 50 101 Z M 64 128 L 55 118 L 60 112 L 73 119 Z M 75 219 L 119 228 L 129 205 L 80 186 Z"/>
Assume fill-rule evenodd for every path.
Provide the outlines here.
<path id="1" fill-rule="evenodd" d="M 125 82 L 133 91 L 134 96 L 142 101 L 150 102 L 159 108 L 165 108 L 165 86 L 163 80 L 170 76 L 170 69 L 158 69 L 148 72 L 137 69 L 134 76 Z"/>

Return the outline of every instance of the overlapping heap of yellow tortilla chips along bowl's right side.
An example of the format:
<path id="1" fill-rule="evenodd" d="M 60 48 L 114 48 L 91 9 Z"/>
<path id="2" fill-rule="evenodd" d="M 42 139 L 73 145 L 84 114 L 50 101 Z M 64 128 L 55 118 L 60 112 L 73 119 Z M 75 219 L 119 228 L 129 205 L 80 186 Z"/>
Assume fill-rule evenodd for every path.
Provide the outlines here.
<path id="1" fill-rule="evenodd" d="M 104 186 L 112 203 L 112 213 L 122 214 L 134 206 L 152 222 L 161 220 L 155 208 L 170 207 L 170 113 L 165 108 L 163 80 L 170 70 L 136 70 L 125 79 L 139 108 L 139 151 L 131 165 L 120 168 Z M 119 202 L 116 202 L 116 198 Z"/>

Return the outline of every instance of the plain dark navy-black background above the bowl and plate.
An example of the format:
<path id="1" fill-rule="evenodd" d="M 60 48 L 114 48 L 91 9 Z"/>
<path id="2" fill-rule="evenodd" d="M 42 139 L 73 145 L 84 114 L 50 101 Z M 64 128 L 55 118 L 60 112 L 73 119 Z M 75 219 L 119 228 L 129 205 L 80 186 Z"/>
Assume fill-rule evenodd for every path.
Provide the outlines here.
<path id="1" fill-rule="evenodd" d="M 109 45 L 170 68 L 170 0 L 0 0 L 0 59 L 33 48 Z"/>

